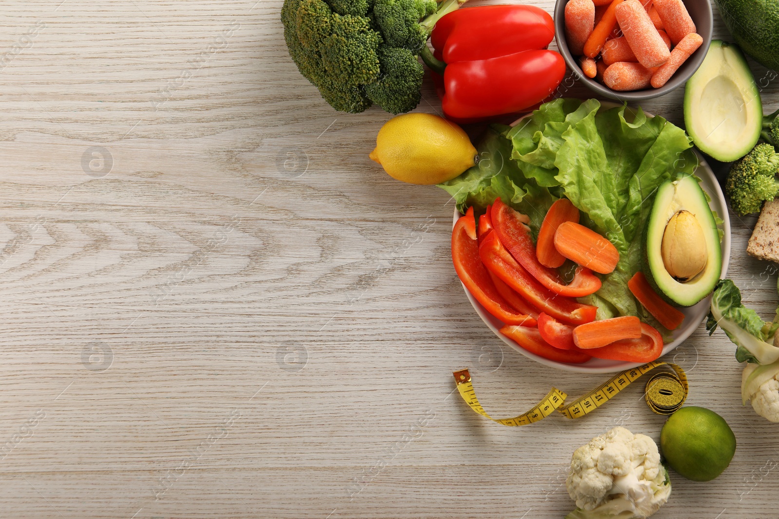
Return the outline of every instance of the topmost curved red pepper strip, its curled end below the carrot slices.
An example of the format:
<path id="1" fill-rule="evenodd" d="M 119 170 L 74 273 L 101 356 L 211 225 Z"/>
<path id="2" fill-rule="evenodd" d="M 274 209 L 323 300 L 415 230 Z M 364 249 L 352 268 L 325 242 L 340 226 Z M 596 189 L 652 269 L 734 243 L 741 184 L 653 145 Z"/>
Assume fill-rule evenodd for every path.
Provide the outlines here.
<path id="1" fill-rule="evenodd" d="M 530 230 L 523 225 L 524 218 L 524 215 L 511 209 L 500 198 L 492 205 L 492 225 L 495 226 L 500 243 L 527 272 L 541 282 L 541 285 L 556 294 L 568 297 L 589 296 L 601 289 L 601 280 L 589 268 L 576 268 L 573 281 L 569 285 L 563 285 L 557 271 L 541 265 Z"/>

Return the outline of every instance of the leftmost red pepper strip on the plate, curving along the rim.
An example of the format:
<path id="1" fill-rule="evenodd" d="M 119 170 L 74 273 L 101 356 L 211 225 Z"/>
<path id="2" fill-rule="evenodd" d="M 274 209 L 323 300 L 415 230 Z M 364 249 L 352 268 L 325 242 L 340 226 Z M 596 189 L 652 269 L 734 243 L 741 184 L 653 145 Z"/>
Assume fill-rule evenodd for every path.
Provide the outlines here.
<path id="1" fill-rule="evenodd" d="M 492 233 L 491 233 L 492 234 Z M 516 310 L 503 299 L 495 289 L 495 284 L 481 263 L 479 247 L 476 241 L 476 220 L 474 208 L 468 209 L 465 216 L 457 220 L 452 232 L 452 261 L 460 281 L 468 292 L 481 303 L 481 306 L 506 324 L 525 324 L 535 326 L 533 317 L 517 314 Z"/>

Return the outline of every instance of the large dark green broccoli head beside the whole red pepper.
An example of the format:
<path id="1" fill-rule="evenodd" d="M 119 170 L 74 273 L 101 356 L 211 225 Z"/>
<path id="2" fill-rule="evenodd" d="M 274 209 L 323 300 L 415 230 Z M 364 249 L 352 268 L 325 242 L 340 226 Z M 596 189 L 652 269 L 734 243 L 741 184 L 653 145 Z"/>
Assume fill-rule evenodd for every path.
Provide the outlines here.
<path id="1" fill-rule="evenodd" d="M 435 21 L 464 2 L 285 0 L 281 21 L 292 60 L 330 106 L 401 114 L 421 100 L 417 56 Z"/>

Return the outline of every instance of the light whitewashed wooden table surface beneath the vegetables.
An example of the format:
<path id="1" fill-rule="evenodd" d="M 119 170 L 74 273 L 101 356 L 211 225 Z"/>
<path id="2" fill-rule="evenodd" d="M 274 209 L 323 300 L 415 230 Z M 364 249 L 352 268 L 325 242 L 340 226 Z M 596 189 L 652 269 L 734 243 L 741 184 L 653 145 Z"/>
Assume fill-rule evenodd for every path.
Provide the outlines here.
<path id="1" fill-rule="evenodd" d="M 642 384 L 520 428 L 452 394 L 471 366 L 512 416 L 605 377 L 488 331 L 449 197 L 368 160 L 390 116 L 319 98 L 281 3 L 0 5 L 0 517 L 561 517 L 576 447 L 619 424 L 658 439 Z M 681 100 L 644 107 L 681 124 Z M 770 318 L 754 222 L 733 219 L 730 275 Z M 672 474 L 656 517 L 777 517 L 779 429 L 742 408 L 734 349 L 701 327 L 672 356 L 738 450 L 714 482 Z"/>

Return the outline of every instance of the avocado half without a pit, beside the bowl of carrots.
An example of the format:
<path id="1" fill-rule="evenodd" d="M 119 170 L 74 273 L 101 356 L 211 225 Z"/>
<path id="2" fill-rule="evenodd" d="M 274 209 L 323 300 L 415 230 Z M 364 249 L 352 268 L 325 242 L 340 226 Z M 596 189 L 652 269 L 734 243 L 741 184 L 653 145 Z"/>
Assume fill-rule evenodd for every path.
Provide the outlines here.
<path id="1" fill-rule="evenodd" d="M 737 46 L 711 42 L 685 87 L 684 120 L 695 145 L 722 162 L 740 159 L 755 146 L 763 127 L 763 104 Z"/>

